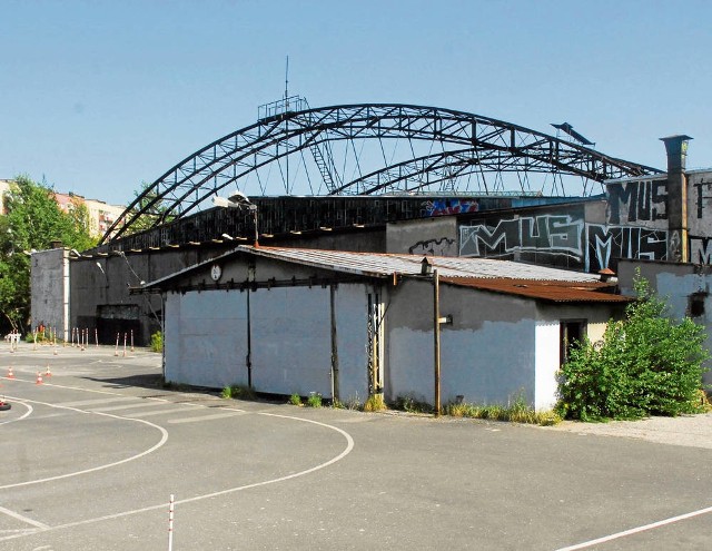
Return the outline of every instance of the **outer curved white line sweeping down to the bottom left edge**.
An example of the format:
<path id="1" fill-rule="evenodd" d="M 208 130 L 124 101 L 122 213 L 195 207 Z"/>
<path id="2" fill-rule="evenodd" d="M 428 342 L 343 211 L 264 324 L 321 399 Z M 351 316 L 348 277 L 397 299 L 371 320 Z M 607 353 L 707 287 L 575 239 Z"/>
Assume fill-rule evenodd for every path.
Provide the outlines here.
<path id="1" fill-rule="evenodd" d="M 175 505 L 179 505 L 179 504 L 182 504 L 182 503 L 191 503 L 191 502 L 195 502 L 195 501 L 207 500 L 207 499 L 216 498 L 216 496 L 219 496 L 219 495 L 226 495 L 228 493 L 241 492 L 243 490 L 249 490 L 251 488 L 258 488 L 258 486 L 266 486 L 268 484 L 276 484 L 277 482 L 284 482 L 286 480 L 296 479 L 298 476 L 304 476 L 306 474 L 310 474 L 313 472 L 319 471 L 322 469 L 325 469 L 325 468 L 336 463 L 337 461 L 343 460 L 354 449 L 354 439 L 352 437 L 352 435 L 348 434 L 346 431 L 339 429 L 338 426 L 329 425 L 329 424 L 326 424 L 326 423 L 320 423 L 319 421 L 312 421 L 309 419 L 294 417 L 291 415 L 279 415 L 279 414 L 276 414 L 276 413 L 256 413 L 256 415 L 265 415 L 265 416 L 268 416 L 268 417 L 281 417 L 281 419 L 288 419 L 288 420 L 293 420 L 293 421 L 301 421 L 304 423 L 312 423 L 312 424 L 315 424 L 315 425 L 318 425 L 318 426 L 324 426 L 326 429 L 330 429 L 333 431 L 338 432 L 342 436 L 344 436 L 346 439 L 346 447 L 338 455 L 332 457 L 328 461 L 325 461 L 324 463 L 319 463 L 318 465 L 313 466 L 310 469 L 305 469 L 304 471 L 299 471 L 299 472 L 293 473 L 293 474 L 287 474 L 286 476 L 279 476 L 277 479 L 264 480 L 261 482 L 255 482 L 253 484 L 245 484 L 245 485 L 241 485 L 241 486 L 228 488 L 227 490 L 220 490 L 218 492 L 206 493 L 204 495 L 196 495 L 194 498 L 188 498 L 188 499 L 185 499 L 185 500 L 178 500 L 178 501 L 174 502 Z M 13 540 L 13 539 L 17 539 L 17 538 L 23 538 L 26 535 L 31 535 L 31 534 L 36 534 L 36 533 L 40 533 L 40 532 L 44 533 L 44 532 L 50 532 L 50 531 L 55 531 L 55 530 L 63 530 L 63 529 L 67 529 L 67 528 L 81 527 L 83 524 L 93 524 L 96 522 L 113 520 L 113 519 L 120 519 L 121 516 L 130 516 L 132 514 L 140 514 L 140 513 L 146 513 L 146 512 L 149 512 L 149 511 L 156 511 L 157 509 L 166 509 L 166 508 L 168 508 L 168 505 L 169 505 L 168 503 L 160 503 L 158 505 L 150 505 L 150 506 L 141 508 L 141 509 L 134 509 L 131 511 L 123 511 L 121 513 L 107 514 L 105 516 L 97 516 L 96 519 L 86 519 L 86 520 L 82 520 L 82 521 L 69 522 L 67 524 L 59 524 L 57 527 L 50 527 L 50 528 L 47 528 L 47 529 L 33 530 L 29 534 L 24 533 L 24 534 L 7 535 L 4 538 L 0 538 L 0 541 Z"/>

